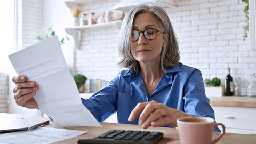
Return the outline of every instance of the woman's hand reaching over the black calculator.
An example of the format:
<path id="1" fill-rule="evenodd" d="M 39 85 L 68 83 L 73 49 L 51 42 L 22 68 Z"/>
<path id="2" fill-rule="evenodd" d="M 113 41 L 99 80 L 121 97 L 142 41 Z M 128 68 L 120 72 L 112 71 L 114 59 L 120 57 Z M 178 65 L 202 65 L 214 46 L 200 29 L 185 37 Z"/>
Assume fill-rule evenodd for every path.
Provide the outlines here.
<path id="1" fill-rule="evenodd" d="M 189 114 L 184 113 L 181 110 L 167 107 L 162 103 L 158 103 L 154 100 L 149 102 L 138 103 L 132 110 L 128 120 L 130 122 L 135 121 L 139 114 L 141 115 L 139 117 L 138 123 L 143 127 L 143 129 L 147 129 L 150 125 L 170 125 L 172 127 L 176 127 L 177 118 L 191 116 Z"/>

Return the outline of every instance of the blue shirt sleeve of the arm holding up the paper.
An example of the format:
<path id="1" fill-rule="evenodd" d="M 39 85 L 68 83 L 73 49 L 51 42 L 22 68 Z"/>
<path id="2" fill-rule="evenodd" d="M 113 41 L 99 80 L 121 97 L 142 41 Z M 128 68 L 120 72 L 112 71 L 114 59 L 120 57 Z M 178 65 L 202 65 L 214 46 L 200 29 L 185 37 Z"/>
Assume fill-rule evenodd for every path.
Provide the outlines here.
<path id="1" fill-rule="evenodd" d="M 89 99 L 82 98 L 83 105 L 100 122 L 116 112 L 119 77 L 120 73 Z"/>

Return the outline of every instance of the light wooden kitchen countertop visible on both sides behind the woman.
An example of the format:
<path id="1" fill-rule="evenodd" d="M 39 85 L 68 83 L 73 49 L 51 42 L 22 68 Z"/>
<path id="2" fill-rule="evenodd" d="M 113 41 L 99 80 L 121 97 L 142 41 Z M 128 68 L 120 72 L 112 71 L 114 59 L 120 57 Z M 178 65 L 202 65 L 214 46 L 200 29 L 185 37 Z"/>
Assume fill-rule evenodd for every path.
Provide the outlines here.
<path id="1" fill-rule="evenodd" d="M 80 96 L 84 99 L 88 99 L 92 95 L 93 93 L 80 93 Z M 223 96 L 208 98 L 211 106 L 256 108 L 256 97 Z"/>

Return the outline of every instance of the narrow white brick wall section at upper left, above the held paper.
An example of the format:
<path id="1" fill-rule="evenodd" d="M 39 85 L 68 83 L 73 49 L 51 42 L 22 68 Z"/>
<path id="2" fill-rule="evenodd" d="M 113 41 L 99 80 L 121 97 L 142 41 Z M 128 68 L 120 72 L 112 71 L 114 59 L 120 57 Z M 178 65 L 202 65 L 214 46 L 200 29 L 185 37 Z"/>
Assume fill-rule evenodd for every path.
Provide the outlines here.
<path id="1" fill-rule="evenodd" d="M 17 26 L 17 50 L 37 43 L 30 35 L 43 26 L 43 0 L 18 0 Z"/>

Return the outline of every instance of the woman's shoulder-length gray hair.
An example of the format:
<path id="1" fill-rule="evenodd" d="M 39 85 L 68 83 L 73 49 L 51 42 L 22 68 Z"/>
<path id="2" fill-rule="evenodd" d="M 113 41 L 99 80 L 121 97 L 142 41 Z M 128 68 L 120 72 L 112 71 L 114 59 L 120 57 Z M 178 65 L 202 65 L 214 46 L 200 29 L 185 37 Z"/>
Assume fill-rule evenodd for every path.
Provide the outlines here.
<path id="1" fill-rule="evenodd" d="M 133 25 L 133 19 L 135 15 L 142 13 L 151 13 L 159 21 L 159 26 L 165 34 L 169 37 L 163 35 L 164 37 L 164 47 L 161 52 L 161 67 L 163 71 L 165 68 L 173 68 L 175 64 L 180 60 L 180 51 L 178 45 L 177 36 L 173 30 L 172 24 L 166 12 L 158 6 L 148 6 L 139 5 L 130 10 L 122 23 L 119 35 L 119 54 L 121 55 L 121 61 L 118 65 L 121 68 L 128 68 L 135 73 L 140 72 L 140 65 L 137 60 L 135 60 L 131 54 L 130 43 L 131 43 L 131 31 Z"/>

